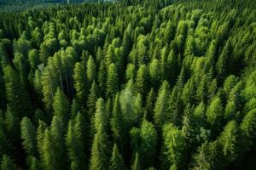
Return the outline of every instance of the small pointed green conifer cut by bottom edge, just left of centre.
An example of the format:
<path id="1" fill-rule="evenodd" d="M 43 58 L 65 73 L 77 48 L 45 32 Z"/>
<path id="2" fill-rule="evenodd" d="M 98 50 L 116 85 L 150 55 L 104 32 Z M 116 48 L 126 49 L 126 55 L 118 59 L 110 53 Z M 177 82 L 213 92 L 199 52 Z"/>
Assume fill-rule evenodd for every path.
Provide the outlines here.
<path id="1" fill-rule="evenodd" d="M 109 170 L 122 170 L 122 169 L 125 169 L 123 158 L 119 154 L 117 144 L 113 144 L 113 151 L 110 159 Z"/>

